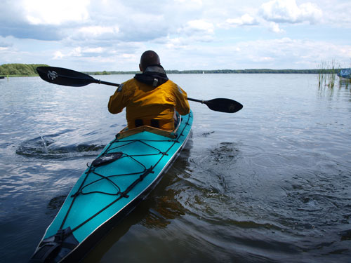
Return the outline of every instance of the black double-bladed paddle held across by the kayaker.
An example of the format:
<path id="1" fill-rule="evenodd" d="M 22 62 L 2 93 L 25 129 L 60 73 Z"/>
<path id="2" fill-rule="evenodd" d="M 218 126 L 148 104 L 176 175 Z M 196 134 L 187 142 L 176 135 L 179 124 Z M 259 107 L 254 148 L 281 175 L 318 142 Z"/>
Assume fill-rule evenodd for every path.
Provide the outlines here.
<path id="1" fill-rule="evenodd" d="M 119 86 L 117 83 L 100 81 L 87 74 L 76 72 L 71 69 L 64 69 L 62 67 L 37 67 L 37 72 L 44 81 L 63 86 L 81 87 L 91 83 Z M 243 107 L 241 103 L 230 99 L 197 100 L 188 97 L 187 100 L 206 104 L 209 109 L 216 112 L 234 113 L 238 112 Z"/>

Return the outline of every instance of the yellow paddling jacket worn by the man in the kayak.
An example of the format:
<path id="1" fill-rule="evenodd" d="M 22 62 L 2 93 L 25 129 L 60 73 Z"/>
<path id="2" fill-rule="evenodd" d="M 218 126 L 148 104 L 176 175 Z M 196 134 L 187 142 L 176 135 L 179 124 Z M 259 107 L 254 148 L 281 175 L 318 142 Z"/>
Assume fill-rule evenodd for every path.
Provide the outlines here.
<path id="1" fill-rule="evenodd" d="M 128 128 L 135 128 L 135 120 L 142 120 L 143 125 L 152 126 L 151 120 L 157 120 L 159 128 L 174 129 L 174 109 L 185 115 L 190 112 L 187 93 L 173 81 L 154 88 L 130 79 L 121 83 L 114 95 L 110 97 L 109 112 L 117 114 L 126 107 Z"/>

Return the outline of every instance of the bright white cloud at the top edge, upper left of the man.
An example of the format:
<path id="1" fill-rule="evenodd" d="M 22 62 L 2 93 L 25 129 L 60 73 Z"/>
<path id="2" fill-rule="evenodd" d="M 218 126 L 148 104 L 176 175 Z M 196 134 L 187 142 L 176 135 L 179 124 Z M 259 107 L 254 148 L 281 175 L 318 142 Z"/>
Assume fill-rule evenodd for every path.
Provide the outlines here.
<path id="1" fill-rule="evenodd" d="M 60 25 L 87 20 L 89 0 L 23 0 L 25 18 L 32 25 Z"/>

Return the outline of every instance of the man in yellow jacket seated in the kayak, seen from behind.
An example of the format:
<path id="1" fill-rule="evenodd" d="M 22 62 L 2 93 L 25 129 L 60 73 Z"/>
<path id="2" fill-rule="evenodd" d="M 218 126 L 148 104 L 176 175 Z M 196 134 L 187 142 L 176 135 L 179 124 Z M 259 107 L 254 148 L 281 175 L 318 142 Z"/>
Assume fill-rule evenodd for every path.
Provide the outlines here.
<path id="1" fill-rule="evenodd" d="M 143 73 L 121 83 L 110 97 L 109 112 L 117 114 L 126 107 L 129 129 L 146 125 L 173 130 L 175 110 L 180 115 L 190 112 L 187 93 L 167 78 L 154 51 L 141 55 L 139 68 Z"/>

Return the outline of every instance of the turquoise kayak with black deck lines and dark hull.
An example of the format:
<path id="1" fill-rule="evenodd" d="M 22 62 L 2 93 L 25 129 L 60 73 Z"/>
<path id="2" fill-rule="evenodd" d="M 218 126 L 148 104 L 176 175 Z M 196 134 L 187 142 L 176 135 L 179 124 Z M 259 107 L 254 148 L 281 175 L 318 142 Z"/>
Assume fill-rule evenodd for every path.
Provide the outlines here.
<path id="1" fill-rule="evenodd" d="M 121 130 L 69 192 L 29 262 L 79 262 L 150 194 L 190 137 L 193 114 L 172 132 Z"/>

